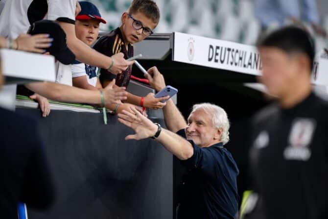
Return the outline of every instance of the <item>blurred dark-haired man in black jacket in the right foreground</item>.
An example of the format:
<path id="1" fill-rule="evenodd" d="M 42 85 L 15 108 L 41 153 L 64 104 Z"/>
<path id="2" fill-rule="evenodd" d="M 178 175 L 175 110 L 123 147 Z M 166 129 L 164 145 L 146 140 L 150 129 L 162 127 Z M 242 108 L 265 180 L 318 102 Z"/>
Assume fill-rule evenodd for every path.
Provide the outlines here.
<path id="1" fill-rule="evenodd" d="M 251 126 L 250 166 L 258 195 L 251 201 L 257 201 L 253 213 L 244 218 L 327 219 L 328 102 L 312 90 L 312 40 L 307 31 L 287 26 L 257 46 L 259 81 L 277 101 Z"/>

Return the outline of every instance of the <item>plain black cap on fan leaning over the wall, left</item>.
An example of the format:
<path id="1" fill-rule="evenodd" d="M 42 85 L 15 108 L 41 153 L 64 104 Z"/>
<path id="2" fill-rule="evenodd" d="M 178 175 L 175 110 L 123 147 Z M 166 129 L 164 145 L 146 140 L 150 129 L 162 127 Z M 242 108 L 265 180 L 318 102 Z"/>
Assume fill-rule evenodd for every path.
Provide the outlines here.
<path id="1" fill-rule="evenodd" d="M 50 20 L 37 21 L 30 26 L 27 33 L 31 35 L 49 34 L 53 41 L 46 50 L 64 65 L 69 65 L 75 60 L 74 53 L 67 47 L 66 34 L 56 22 Z"/>

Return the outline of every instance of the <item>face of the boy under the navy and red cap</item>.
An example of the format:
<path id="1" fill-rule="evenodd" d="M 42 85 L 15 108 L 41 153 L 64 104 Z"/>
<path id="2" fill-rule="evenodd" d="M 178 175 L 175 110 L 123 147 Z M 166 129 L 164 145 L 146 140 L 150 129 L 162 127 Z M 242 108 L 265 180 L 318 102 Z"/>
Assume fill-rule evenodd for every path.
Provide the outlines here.
<path id="1" fill-rule="evenodd" d="M 76 37 L 83 43 L 91 46 L 98 37 L 99 21 L 95 19 L 76 20 L 75 33 Z"/>

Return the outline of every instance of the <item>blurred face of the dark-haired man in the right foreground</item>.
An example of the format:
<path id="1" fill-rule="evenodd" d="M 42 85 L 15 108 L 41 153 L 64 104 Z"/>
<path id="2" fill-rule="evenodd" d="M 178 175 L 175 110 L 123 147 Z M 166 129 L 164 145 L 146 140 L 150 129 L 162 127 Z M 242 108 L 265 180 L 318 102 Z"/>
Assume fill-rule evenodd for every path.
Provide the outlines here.
<path id="1" fill-rule="evenodd" d="M 265 85 L 270 95 L 283 97 L 298 77 L 296 56 L 273 47 L 261 47 L 258 51 L 262 61 L 259 82 Z"/>

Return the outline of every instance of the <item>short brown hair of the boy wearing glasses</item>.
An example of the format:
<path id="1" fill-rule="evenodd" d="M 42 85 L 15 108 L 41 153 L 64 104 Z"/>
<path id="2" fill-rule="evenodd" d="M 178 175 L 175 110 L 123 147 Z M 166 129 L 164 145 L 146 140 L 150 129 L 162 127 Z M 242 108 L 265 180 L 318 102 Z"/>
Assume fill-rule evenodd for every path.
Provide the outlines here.
<path id="1" fill-rule="evenodd" d="M 129 9 L 129 14 L 141 12 L 147 18 L 151 19 L 154 24 L 160 21 L 160 9 L 153 0 L 133 0 Z"/>

